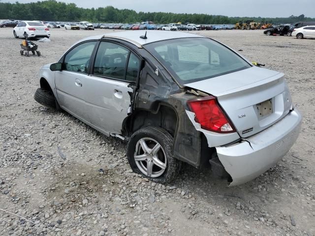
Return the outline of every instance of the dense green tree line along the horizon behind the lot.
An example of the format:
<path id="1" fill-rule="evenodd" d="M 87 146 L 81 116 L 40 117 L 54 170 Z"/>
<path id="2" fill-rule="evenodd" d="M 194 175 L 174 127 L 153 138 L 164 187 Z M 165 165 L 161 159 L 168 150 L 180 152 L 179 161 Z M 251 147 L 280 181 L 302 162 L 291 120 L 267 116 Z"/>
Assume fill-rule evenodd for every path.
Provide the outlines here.
<path id="1" fill-rule="evenodd" d="M 1 1 L 1 0 L 0 0 Z M 290 16 L 287 18 L 262 17 L 227 17 L 210 14 L 187 14 L 171 12 L 136 12 L 130 9 L 118 9 L 113 6 L 98 8 L 81 8 L 75 3 L 65 3 L 56 0 L 45 0 L 31 3 L 0 2 L 0 19 L 39 20 L 79 22 L 90 21 L 98 23 L 136 23 L 153 21 L 156 24 L 174 22 L 189 22 L 194 24 L 235 24 L 239 20 L 254 20 L 254 22 L 271 21 L 273 23 L 293 23 L 296 21 L 315 21 L 315 18 Z"/>

